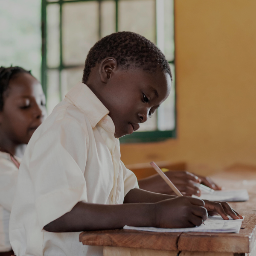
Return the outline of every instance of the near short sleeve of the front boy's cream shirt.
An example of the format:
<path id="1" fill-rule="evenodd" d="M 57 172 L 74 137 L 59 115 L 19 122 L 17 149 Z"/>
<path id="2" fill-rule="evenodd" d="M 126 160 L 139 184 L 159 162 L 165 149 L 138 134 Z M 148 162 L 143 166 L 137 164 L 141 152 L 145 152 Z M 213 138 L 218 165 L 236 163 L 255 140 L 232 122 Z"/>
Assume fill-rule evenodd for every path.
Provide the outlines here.
<path id="1" fill-rule="evenodd" d="M 88 133 L 73 119 L 55 121 L 35 142 L 29 173 L 41 229 L 87 201 L 84 169 Z"/>

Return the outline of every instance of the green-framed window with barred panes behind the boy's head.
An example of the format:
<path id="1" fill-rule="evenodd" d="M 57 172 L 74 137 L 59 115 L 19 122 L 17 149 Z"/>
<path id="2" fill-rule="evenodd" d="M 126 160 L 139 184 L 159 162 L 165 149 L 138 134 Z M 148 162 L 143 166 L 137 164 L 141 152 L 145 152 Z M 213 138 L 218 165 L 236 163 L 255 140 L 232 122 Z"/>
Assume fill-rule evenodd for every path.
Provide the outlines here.
<path id="1" fill-rule="evenodd" d="M 78 81 L 89 49 L 117 31 L 145 36 L 164 52 L 175 75 L 173 0 L 42 0 L 42 85 L 50 113 Z M 175 137 L 175 79 L 170 96 L 121 143 Z"/>

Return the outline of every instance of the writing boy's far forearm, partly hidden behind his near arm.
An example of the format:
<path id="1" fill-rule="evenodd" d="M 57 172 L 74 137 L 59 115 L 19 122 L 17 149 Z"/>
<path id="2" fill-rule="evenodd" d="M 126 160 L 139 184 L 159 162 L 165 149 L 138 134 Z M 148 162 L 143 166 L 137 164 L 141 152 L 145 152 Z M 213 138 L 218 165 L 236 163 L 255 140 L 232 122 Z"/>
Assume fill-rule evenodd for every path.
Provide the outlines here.
<path id="1" fill-rule="evenodd" d="M 175 195 L 158 194 L 143 189 L 131 189 L 125 196 L 124 204 L 157 203 L 175 197 Z"/>

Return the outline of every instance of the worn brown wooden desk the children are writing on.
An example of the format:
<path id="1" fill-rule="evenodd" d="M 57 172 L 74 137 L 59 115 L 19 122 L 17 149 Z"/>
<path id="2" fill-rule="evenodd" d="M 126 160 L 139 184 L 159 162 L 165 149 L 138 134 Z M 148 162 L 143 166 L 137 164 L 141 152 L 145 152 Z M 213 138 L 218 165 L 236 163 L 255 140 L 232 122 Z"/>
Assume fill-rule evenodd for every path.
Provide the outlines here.
<path id="1" fill-rule="evenodd" d="M 249 192 L 249 201 L 230 203 L 245 216 L 239 234 L 119 229 L 83 232 L 80 241 L 103 246 L 104 256 L 256 256 L 256 172 L 239 169 L 212 178 L 225 188 Z"/>

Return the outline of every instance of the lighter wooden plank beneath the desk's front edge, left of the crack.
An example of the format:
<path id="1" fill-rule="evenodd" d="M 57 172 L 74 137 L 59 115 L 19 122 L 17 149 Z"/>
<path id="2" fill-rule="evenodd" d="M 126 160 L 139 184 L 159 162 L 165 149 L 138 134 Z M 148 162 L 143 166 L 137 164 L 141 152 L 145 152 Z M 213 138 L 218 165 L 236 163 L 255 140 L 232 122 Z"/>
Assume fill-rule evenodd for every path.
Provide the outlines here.
<path id="1" fill-rule="evenodd" d="M 177 256 L 178 251 L 150 250 L 128 247 L 103 247 L 104 256 Z M 229 255 L 227 255 L 229 256 Z M 233 255 L 232 255 L 233 256 Z"/>

